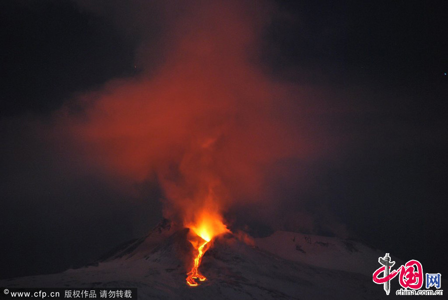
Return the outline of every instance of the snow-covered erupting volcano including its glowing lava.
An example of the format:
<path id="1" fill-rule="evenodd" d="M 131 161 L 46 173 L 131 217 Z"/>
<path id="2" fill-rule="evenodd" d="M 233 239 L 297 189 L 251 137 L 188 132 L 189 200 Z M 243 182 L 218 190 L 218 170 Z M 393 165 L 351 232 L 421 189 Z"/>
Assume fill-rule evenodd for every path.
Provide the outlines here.
<path id="1" fill-rule="evenodd" d="M 229 231 L 219 214 L 208 212 L 205 218 L 198 219 L 197 226 L 192 224 L 190 230 L 185 228 L 188 224 L 164 219 L 146 236 L 118 245 L 85 268 L 0 280 L 0 286 L 67 289 L 70 285 L 86 290 L 138 287 L 138 295 L 133 299 L 289 300 L 298 299 L 297 295 L 301 299 L 316 300 L 384 297 L 383 289 L 372 283 L 369 274 L 383 254 L 381 250 L 351 240 L 295 232 L 276 232 L 266 238 L 254 239 L 255 244 L 249 245 L 235 234 L 219 234 L 219 229 L 222 233 Z M 190 243 L 198 246 L 195 249 L 199 255 L 196 253 L 194 258 L 191 257 Z M 211 282 L 193 289 L 191 286 L 205 280 L 198 267 L 206 250 L 207 264 L 201 268 Z M 187 284 L 185 258 L 191 258 L 195 263 L 188 273 Z"/>

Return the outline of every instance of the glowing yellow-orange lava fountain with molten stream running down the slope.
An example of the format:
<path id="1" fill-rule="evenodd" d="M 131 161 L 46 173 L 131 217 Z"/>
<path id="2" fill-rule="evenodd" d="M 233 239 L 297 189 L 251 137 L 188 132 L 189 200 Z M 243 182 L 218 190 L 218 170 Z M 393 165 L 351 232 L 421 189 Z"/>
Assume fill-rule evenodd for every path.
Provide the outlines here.
<path id="1" fill-rule="evenodd" d="M 197 250 L 197 255 L 193 262 L 191 271 L 187 273 L 187 285 L 190 287 L 196 287 L 199 281 L 205 281 L 207 278 L 199 272 L 199 266 L 201 265 L 202 257 L 204 253 L 210 248 L 210 241 L 223 233 L 230 232 L 224 225 L 221 215 L 218 213 L 210 213 L 204 211 L 201 214 L 200 220 L 197 224 L 192 223 L 187 225 L 191 231 L 195 234 L 189 239 L 190 243 Z"/>

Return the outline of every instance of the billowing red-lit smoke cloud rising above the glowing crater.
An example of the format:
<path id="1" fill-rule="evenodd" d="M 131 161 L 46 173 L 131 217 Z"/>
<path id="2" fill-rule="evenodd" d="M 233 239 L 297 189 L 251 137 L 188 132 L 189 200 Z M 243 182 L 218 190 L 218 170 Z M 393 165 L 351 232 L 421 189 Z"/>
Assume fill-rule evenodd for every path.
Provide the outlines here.
<path id="1" fill-rule="evenodd" d="M 326 150 L 309 117 L 311 96 L 255 63 L 272 7 L 187 3 L 135 5 L 134 26 L 146 26 L 154 9 L 162 19 L 163 62 L 151 67 L 154 50 L 143 40 L 138 78 L 78 97 L 82 113 L 58 112 L 59 128 L 82 160 L 132 181 L 155 176 L 164 215 L 184 223 L 200 217 L 200 208 L 223 213 L 265 199 L 275 163 Z"/>

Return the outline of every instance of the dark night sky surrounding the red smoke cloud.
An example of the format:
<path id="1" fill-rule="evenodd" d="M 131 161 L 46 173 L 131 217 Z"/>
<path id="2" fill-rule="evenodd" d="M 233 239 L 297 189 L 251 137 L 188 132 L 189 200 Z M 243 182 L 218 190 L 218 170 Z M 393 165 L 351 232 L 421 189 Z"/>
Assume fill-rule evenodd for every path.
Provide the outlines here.
<path id="1" fill-rule="evenodd" d="M 142 27 L 132 5 L 110 3 L 0 4 L 0 278 L 81 266 L 162 218 L 154 176 L 131 180 L 129 192 L 80 164 L 64 137 L 55 143 L 55 115 L 82 114 L 79 95 L 166 63 L 158 5 L 146 6 Z M 253 235 L 357 238 L 447 274 L 446 1 L 274 5 L 252 63 L 320 99 L 307 102 L 309 134 L 333 151 L 278 159 L 265 178 L 265 197 L 277 200 L 233 205 L 225 217 Z"/>

